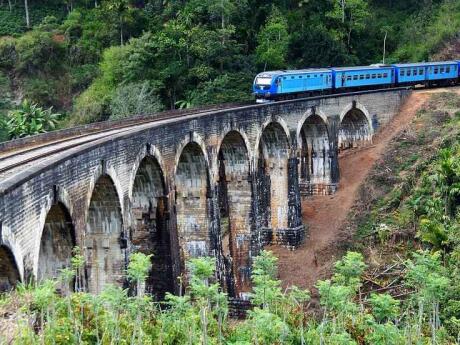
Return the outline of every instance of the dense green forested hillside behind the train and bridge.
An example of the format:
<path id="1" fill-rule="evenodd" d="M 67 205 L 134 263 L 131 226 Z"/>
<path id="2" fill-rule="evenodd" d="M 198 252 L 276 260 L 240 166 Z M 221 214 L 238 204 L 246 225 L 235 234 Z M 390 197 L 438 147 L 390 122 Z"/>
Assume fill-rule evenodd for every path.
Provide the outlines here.
<path id="1" fill-rule="evenodd" d="M 1 0 L 0 140 L 245 101 L 263 70 L 454 58 L 459 30 L 455 0 Z"/>

